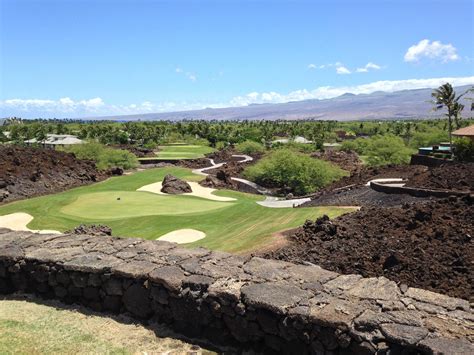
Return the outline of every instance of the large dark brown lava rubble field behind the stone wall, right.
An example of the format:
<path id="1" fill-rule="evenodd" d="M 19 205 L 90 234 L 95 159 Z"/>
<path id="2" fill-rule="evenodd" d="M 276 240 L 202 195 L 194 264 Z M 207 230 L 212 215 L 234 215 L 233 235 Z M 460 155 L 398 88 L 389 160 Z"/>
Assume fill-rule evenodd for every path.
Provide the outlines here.
<path id="1" fill-rule="evenodd" d="M 288 246 L 264 257 L 364 277 L 385 276 L 408 286 L 474 300 L 474 201 L 362 208 L 330 221 L 307 221 Z"/>

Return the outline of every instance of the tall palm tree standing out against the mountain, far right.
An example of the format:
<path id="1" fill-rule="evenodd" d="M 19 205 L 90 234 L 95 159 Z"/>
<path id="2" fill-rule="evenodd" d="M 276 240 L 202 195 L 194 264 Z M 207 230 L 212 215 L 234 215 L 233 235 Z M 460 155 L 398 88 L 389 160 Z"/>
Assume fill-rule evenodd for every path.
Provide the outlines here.
<path id="1" fill-rule="evenodd" d="M 452 147 L 453 138 L 451 135 L 452 131 L 452 120 L 455 117 L 459 116 L 459 113 L 464 108 L 464 106 L 459 102 L 459 99 L 466 95 L 468 92 L 473 91 L 474 88 L 470 88 L 463 92 L 461 95 L 456 96 L 456 92 L 450 83 L 441 85 L 439 88 L 433 90 L 431 97 L 433 97 L 432 103 L 435 105 L 434 110 L 440 110 L 442 108 L 447 108 L 448 113 L 448 131 L 449 131 L 449 145 Z M 458 121 L 458 118 L 456 118 Z M 452 148 L 451 148 L 452 149 Z"/>

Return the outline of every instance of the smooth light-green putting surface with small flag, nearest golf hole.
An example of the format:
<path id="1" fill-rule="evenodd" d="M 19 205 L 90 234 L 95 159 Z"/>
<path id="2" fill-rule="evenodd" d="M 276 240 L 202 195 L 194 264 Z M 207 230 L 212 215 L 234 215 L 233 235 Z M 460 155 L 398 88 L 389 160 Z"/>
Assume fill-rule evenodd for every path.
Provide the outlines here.
<path id="1" fill-rule="evenodd" d="M 186 196 L 163 196 L 149 192 L 111 191 L 79 196 L 61 208 L 67 215 L 89 220 L 122 219 L 155 215 L 185 215 L 229 207 L 216 202 Z"/>

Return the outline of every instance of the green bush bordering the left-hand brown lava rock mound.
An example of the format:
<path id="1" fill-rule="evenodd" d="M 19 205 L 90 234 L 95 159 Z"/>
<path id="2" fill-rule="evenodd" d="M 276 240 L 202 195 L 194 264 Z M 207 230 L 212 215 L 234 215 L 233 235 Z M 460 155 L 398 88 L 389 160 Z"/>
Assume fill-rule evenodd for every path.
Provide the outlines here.
<path id="1" fill-rule="evenodd" d="M 73 153 L 78 159 L 95 161 L 99 170 L 113 167 L 131 169 L 138 166 L 138 159 L 134 154 L 126 150 L 108 148 L 99 143 L 76 144 L 65 148 L 65 151 Z"/>

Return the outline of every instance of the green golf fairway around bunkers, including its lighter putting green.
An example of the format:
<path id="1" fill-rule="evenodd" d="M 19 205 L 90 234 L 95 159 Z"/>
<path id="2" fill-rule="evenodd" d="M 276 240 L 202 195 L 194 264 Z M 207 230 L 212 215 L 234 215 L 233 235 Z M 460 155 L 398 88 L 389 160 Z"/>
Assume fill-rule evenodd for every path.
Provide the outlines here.
<path id="1" fill-rule="evenodd" d="M 297 227 L 306 219 L 323 214 L 336 217 L 349 211 L 338 207 L 267 208 L 255 203 L 263 196 L 228 190 L 216 194 L 236 201 L 136 191 L 143 185 L 161 181 L 166 174 L 188 181 L 202 179 L 185 168 L 150 169 L 54 195 L 12 202 L 0 206 L 0 215 L 29 213 L 34 217 L 28 225 L 31 229 L 66 231 L 81 223 L 101 223 L 110 226 L 114 235 L 144 239 L 192 228 L 207 236 L 188 246 L 245 253 L 271 243 L 273 233 Z"/>

